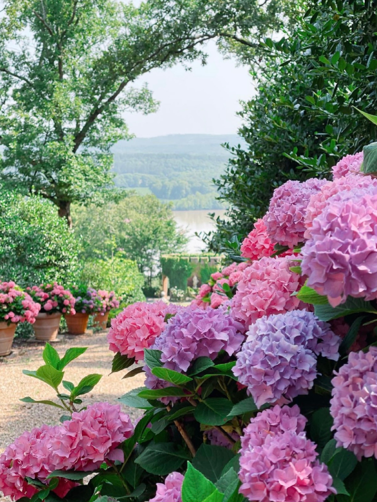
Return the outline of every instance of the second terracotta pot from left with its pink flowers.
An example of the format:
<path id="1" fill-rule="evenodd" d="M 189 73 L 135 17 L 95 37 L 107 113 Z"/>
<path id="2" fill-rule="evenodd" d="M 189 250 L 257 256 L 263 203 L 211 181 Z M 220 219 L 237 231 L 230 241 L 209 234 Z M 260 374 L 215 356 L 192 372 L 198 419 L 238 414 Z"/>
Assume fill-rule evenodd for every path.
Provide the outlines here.
<path id="1" fill-rule="evenodd" d="M 57 282 L 33 286 L 26 290 L 34 301 L 41 304 L 41 311 L 33 326 L 36 339 L 55 340 L 59 332 L 62 314 L 75 313 L 73 295 Z"/>

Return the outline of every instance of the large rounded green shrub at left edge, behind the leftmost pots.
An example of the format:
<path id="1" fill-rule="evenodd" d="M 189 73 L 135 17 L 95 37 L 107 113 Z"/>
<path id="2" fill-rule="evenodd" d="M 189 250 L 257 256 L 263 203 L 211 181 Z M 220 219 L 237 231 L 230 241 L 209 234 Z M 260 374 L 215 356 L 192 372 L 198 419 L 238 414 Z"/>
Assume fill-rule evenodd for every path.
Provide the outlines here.
<path id="1" fill-rule="evenodd" d="M 78 245 L 56 207 L 37 196 L 0 194 L 0 279 L 21 287 L 57 281 L 78 273 Z"/>

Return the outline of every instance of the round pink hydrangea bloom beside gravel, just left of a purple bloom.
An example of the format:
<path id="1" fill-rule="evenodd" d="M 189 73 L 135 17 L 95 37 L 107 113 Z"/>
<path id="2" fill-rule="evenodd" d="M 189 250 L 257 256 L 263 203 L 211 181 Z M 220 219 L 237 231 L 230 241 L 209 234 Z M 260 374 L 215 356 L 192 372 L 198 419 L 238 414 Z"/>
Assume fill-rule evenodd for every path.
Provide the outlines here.
<path id="1" fill-rule="evenodd" d="M 110 350 L 135 357 L 136 361 L 143 360 L 144 349 L 153 345 L 165 328 L 166 314 L 175 314 L 178 309 L 177 305 L 166 305 L 162 301 L 129 305 L 111 321 Z"/>

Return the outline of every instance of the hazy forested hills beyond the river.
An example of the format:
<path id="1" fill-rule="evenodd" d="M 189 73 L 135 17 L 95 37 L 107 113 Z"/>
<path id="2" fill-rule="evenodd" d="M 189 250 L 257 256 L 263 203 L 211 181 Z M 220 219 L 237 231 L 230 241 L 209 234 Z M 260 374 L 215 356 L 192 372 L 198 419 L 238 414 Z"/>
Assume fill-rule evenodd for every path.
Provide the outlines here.
<path id="1" fill-rule="evenodd" d="M 113 147 L 115 184 L 170 201 L 174 209 L 218 209 L 213 178 L 225 169 L 237 135 L 169 135 L 120 141 Z"/>

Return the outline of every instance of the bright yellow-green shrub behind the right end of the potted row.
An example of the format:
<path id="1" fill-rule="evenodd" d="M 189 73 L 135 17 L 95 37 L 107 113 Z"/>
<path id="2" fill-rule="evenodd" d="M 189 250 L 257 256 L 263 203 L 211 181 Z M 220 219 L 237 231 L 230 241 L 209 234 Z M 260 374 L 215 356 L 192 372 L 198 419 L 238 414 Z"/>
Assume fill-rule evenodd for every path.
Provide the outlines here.
<path id="1" fill-rule="evenodd" d="M 124 258 L 123 253 L 117 253 L 109 260 L 86 260 L 80 281 L 91 288 L 115 291 L 121 307 L 145 300 L 142 291 L 144 276 L 140 274 L 136 262 Z"/>

